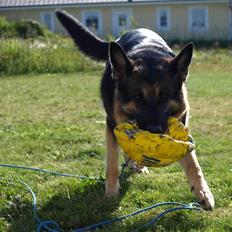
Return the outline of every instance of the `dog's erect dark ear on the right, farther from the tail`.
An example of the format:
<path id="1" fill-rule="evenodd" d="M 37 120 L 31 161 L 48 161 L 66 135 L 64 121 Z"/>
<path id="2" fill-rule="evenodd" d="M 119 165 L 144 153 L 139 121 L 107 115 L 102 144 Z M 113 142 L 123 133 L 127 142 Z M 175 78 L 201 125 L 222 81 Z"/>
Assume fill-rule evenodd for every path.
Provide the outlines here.
<path id="1" fill-rule="evenodd" d="M 176 81 L 182 84 L 188 75 L 188 67 L 193 55 L 193 43 L 188 43 L 181 52 L 171 61 L 171 70 L 174 72 Z"/>

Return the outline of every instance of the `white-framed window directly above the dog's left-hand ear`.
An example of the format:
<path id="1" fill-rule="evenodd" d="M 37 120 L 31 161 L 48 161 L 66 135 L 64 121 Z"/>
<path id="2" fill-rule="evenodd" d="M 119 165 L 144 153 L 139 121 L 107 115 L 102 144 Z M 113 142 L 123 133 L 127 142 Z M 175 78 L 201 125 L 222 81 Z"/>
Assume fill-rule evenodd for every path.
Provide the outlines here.
<path id="1" fill-rule="evenodd" d="M 113 34 L 119 36 L 121 32 L 129 30 L 132 12 L 130 9 L 115 9 L 112 14 Z"/>

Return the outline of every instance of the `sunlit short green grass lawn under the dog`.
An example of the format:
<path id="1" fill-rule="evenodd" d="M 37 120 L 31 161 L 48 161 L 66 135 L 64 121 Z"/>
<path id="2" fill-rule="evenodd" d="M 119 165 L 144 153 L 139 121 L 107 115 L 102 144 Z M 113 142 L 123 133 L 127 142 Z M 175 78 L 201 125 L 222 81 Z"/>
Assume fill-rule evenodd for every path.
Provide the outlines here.
<path id="1" fill-rule="evenodd" d="M 213 212 L 181 211 L 148 231 L 232 231 L 232 55 L 195 53 L 189 77 L 191 130 L 197 154 L 215 195 Z M 0 163 L 104 176 L 105 114 L 99 72 L 24 75 L 0 79 Z M 121 162 L 123 161 L 121 156 Z M 103 198 L 104 184 L 0 168 L 0 176 L 25 181 L 35 191 L 38 214 L 63 231 L 80 228 L 157 202 L 193 202 L 178 164 L 122 180 L 121 195 Z M 0 231 L 35 231 L 30 194 L 0 182 Z M 164 208 L 162 208 L 163 210 Z M 102 231 L 133 231 L 161 212 L 153 210 Z"/>

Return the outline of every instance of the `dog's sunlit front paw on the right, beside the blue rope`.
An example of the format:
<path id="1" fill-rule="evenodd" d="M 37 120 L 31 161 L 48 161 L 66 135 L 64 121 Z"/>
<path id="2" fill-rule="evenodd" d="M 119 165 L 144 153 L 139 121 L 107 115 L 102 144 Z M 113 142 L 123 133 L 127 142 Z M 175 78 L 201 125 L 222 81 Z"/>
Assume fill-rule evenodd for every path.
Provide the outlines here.
<path id="1" fill-rule="evenodd" d="M 195 185 L 192 187 L 192 191 L 195 194 L 197 200 L 202 205 L 202 208 L 205 210 L 214 209 L 214 196 L 211 193 L 207 183 L 202 183 L 201 185 Z"/>

